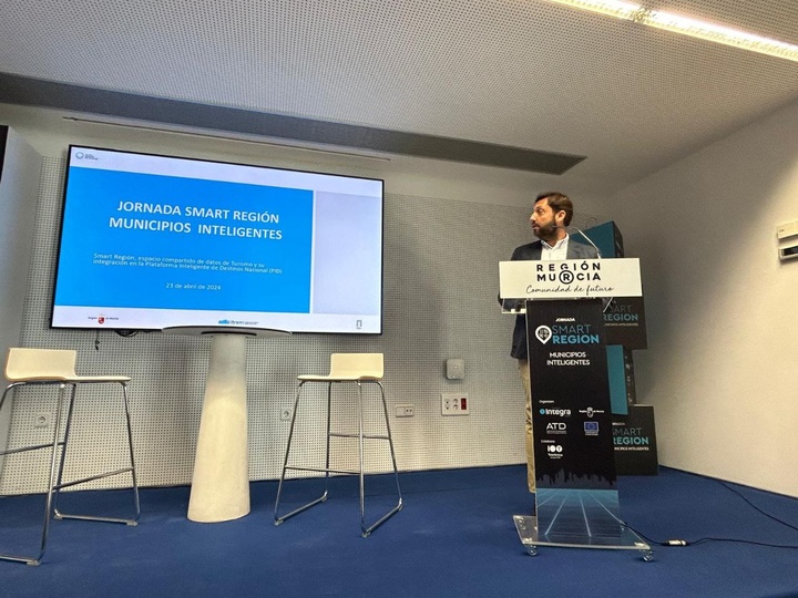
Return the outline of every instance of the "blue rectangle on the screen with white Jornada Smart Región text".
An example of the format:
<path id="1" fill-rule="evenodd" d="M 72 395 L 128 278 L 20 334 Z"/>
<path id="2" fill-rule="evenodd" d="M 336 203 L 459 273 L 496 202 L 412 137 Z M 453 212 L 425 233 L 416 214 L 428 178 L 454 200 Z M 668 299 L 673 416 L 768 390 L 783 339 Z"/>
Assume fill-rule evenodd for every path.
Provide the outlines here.
<path id="1" fill-rule="evenodd" d="M 57 306 L 310 309 L 313 192 L 71 167 Z"/>

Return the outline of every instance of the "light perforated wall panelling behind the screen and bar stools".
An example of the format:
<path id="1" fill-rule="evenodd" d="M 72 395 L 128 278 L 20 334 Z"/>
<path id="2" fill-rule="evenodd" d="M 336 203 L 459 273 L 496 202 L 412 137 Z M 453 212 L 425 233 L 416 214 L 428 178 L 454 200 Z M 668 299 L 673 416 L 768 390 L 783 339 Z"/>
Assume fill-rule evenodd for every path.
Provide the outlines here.
<path id="1" fill-rule="evenodd" d="M 191 482 L 204 393 L 209 339 L 158 332 L 122 338 L 113 332 L 49 328 L 57 261 L 62 181 L 65 163 L 45 158 L 38 205 L 35 249 L 23 321 L 23 344 L 73 348 L 80 373 L 119 373 L 130 384 L 133 435 L 140 483 L 145 486 Z M 498 266 L 529 237 L 525 208 L 386 196 L 385 327 L 378 337 L 295 334 L 250 339 L 247 348 L 249 475 L 279 476 L 296 375 L 326 373 L 331 352 L 382 352 L 385 386 L 397 461 L 402 471 L 522 463 L 523 392 L 509 357 L 511 317 L 497 301 Z M 585 218 L 575 218 L 584 225 Z M 130 280 L 135 292 L 135 280 Z M 444 377 L 448 358 L 466 360 L 466 380 Z M 367 388 L 367 421 L 379 426 L 381 406 Z M 108 392 L 105 392 L 108 391 Z M 341 390 L 334 424 L 351 431 L 352 390 Z M 441 393 L 467 392 L 471 414 L 442 416 Z M 37 390 L 14 401 L 11 442 L 39 442 L 52 429 L 33 427 L 39 412 L 54 413 L 53 392 Z M 297 425 L 318 434 L 297 439 L 298 454 L 324 458 L 323 388 L 308 390 Z M 50 402 L 48 402 L 50 401 Z M 412 404 L 413 417 L 396 417 L 393 406 Z M 90 475 L 105 463 L 123 464 L 121 395 L 114 388 L 80 390 L 80 412 L 70 440 L 66 478 Z M 349 426 L 349 429 L 347 429 Z M 369 471 L 390 468 L 385 446 L 374 441 Z M 335 467 L 357 464 L 356 443 L 336 441 Z M 43 451 L 47 453 L 47 451 Z M 13 456 L 0 480 L 3 493 L 43 489 L 47 455 Z M 123 476 L 94 482 L 94 487 L 130 484 Z"/>

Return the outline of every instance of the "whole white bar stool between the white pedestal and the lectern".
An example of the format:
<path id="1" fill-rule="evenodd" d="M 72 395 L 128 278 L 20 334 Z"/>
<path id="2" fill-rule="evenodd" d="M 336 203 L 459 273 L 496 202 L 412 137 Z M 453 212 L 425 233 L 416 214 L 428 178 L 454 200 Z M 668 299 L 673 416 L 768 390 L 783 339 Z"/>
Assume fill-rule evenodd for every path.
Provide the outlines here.
<path id="1" fill-rule="evenodd" d="M 401 511 L 402 508 L 402 496 L 401 488 L 399 486 L 399 472 L 397 470 L 396 453 L 393 451 L 393 439 L 390 432 L 390 422 L 388 421 L 388 405 L 386 404 L 385 388 L 382 386 L 383 375 L 383 355 L 382 353 L 332 353 L 330 355 L 330 371 L 327 375 L 313 375 L 304 374 L 298 375 L 296 399 L 294 401 L 294 413 L 291 415 L 290 430 L 288 432 L 288 445 L 286 446 L 285 460 L 283 461 L 283 471 L 280 473 L 279 485 L 277 486 L 277 498 L 275 501 L 275 525 L 279 525 L 289 517 L 298 515 L 305 509 L 310 508 L 319 503 L 327 499 L 328 494 L 328 482 L 330 474 L 339 475 L 358 475 L 360 477 L 360 530 L 362 537 L 367 537 L 377 527 L 382 525 L 389 517 Z M 303 388 L 309 383 L 323 383 L 327 384 L 327 439 L 326 439 L 326 456 L 324 467 L 305 466 L 301 464 L 295 464 L 289 461 L 291 442 L 295 437 L 295 425 L 297 420 L 297 413 L 299 412 L 299 404 L 301 398 Z M 334 383 L 355 383 L 358 386 L 358 433 L 342 433 L 334 432 L 330 429 L 330 406 L 332 399 L 332 384 Z M 376 384 L 380 391 L 380 398 L 382 401 L 382 414 L 385 415 L 386 434 L 371 434 L 366 433 L 364 430 L 364 385 Z M 359 450 L 359 468 L 357 471 L 351 470 L 337 470 L 330 467 L 330 439 L 357 439 Z M 382 515 L 371 525 L 366 525 L 366 493 L 365 493 L 365 475 L 364 471 L 364 440 L 378 440 L 386 441 L 390 450 L 391 464 L 393 467 L 393 477 L 396 481 L 396 492 L 398 502 L 390 511 Z M 283 488 L 286 481 L 286 472 L 317 472 L 324 473 L 325 488 L 321 496 L 310 501 L 309 503 L 287 513 L 286 515 L 279 515 L 280 498 L 283 496 Z"/>

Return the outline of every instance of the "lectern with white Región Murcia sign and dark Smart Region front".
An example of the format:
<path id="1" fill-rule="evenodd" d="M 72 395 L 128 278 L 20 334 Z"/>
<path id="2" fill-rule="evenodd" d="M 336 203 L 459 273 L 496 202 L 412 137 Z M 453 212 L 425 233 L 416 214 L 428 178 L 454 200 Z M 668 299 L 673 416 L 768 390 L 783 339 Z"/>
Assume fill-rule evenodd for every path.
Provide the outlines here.
<path id="1" fill-rule="evenodd" d="M 621 524 L 602 302 L 643 295 L 640 261 L 499 262 L 502 311 L 523 313 L 532 396 L 535 515 L 513 517 L 540 545 L 651 547 Z"/>

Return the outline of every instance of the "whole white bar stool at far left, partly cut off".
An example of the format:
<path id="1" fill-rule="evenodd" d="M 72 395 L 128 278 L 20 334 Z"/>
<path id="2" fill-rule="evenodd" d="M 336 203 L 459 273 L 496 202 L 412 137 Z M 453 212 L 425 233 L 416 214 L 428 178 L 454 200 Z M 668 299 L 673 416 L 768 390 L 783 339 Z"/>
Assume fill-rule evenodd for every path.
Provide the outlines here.
<path id="1" fill-rule="evenodd" d="M 75 362 L 78 360 L 78 351 L 69 349 L 9 349 L 6 360 L 6 379 L 10 384 L 3 391 L 0 398 L 0 411 L 7 403 L 6 399 L 17 395 L 17 391 L 28 385 L 54 385 L 59 388 L 59 395 L 55 404 L 55 417 L 53 421 L 53 439 L 52 442 L 45 444 L 34 444 L 16 448 L 0 451 L 0 456 L 17 453 L 25 453 L 40 448 L 50 447 L 52 453 L 50 457 L 50 473 L 48 481 L 48 491 L 44 505 L 44 522 L 42 525 L 41 544 L 37 556 L 19 556 L 12 554 L 0 554 L 2 560 L 13 560 L 25 563 L 28 565 L 39 565 L 44 550 L 47 548 L 48 534 L 50 529 L 51 515 L 57 519 L 83 519 L 92 522 L 122 523 L 126 525 L 136 525 L 141 515 L 141 506 L 139 502 L 139 484 L 136 482 L 135 462 L 133 458 L 133 436 L 131 431 L 130 406 L 127 402 L 127 383 L 130 378 L 126 375 L 79 375 L 75 373 Z M 127 451 L 130 453 L 130 466 L 114 471 L 103 472 L 81 480 L 63 482 L 63 470 L 66 461 L 66 447 L 69 443 L 70 430 L 72 426 L 72 416 L 74 412 L 74 400 L 79 384 L 120 384 L 122 386 L 122 399 L 124 405 L 124 415 L 127 431 Z M 62 413 L 66 403 L 66 417 L 62 430 Z M 60 451 L 59 451 L 60 448 Z M 59 458 L 60 455 L 60 458 Z M 117 517 L 104 517 L 94 515 L 74 515 L 61 513 L 58 509 L 58 497 L 61 489 L 92 482 L 95 480 L 130 473 L 132 478 L 133 506 L 134 515 L 130 519 Z"/>

